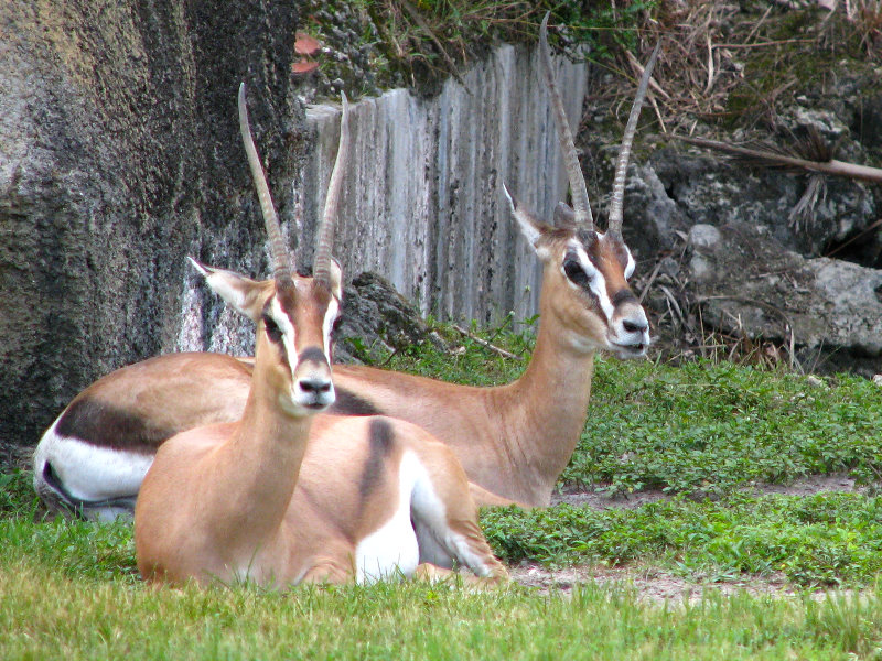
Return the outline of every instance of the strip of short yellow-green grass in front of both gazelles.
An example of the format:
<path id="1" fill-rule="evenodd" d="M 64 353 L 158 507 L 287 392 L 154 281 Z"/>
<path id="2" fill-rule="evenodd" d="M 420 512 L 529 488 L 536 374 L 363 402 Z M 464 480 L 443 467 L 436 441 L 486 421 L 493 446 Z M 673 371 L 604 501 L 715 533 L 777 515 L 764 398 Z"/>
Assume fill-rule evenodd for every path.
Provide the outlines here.
<path id="1" fill-rule="evenodd" d="M 419 583 L 152 590 L 0 560 L 3 659 L 854 659 L 882 640 L 882 595 L 710 593 L 658 606 L 624 586 L 571 597 Z"/>

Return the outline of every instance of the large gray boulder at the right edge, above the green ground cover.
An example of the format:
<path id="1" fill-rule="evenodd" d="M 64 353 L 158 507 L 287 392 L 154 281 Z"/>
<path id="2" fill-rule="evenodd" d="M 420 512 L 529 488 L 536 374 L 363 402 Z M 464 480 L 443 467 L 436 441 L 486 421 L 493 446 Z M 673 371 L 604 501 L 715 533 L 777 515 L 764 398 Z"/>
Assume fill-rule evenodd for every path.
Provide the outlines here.
<path id="1" fill-rule="evenodd" d="M 693 245 L 692 294 L 702 318 L 732 335 L 788 345 L 811 369 L 882 369 L 882 270 L 806 259 L 744 224 Z"/>

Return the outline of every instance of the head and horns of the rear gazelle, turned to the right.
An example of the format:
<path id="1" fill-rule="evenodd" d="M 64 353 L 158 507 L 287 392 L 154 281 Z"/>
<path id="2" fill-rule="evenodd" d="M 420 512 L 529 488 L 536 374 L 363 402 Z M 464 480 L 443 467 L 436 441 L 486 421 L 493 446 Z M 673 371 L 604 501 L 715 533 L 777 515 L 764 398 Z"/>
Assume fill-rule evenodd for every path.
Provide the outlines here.
<path id="1" fill-rule="evenodd" d="M 649 322 L 627 283 L 635 263 L 622 239 L 622 202 L 631 143 L 658 47 L 644 69 L 625 128 L 605 232 L 595 227 L 591 215 L 585 181 L 551 69 L 548 14 L 539 32 L 539 50 L 574 208 L 560 203 L 556 224 L 550 225 L 534 217 L 507 186 L 504 188 L 521 232 L 545 266 L 542 313 L 560 323 L 560 332 L 576 350 L 609 349 L 622 358 L 644 356 L 649 345 Z"/>

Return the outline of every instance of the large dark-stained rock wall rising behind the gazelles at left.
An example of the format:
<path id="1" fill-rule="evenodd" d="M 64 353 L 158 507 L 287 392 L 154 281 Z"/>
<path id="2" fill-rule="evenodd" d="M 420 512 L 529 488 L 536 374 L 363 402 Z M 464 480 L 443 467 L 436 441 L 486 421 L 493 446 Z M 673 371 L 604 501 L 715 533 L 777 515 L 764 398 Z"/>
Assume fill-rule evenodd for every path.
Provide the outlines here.
<path id="1" fill-rule="evenodd" d="M 0 460 L 97 377 L 178 344 L 185 254 L 263 271 L 236 88 L 282 192 L 302 153 L 297 7 L 0 3 Z"/>

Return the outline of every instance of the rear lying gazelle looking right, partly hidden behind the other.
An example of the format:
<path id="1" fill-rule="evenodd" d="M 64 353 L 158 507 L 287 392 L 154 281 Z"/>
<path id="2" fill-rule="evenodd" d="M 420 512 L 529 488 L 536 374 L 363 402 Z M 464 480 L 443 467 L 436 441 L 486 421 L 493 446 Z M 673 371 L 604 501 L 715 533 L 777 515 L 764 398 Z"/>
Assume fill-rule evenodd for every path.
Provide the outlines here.
<path id="1" fill-rule="evenodd" d="M 628 289 L 634 260 L 622 240 L 625 173 L 656 54 L 644 69 L 615 171 L 609 226 L 594 226 L 584 177 L 551 73 L 547 17 L 540 31 L 546 84 L 568 166 L 574 212 L 558 227 L 534 219 L 506 189 L 521 232 L 542 260 L 536 349 L 517 381 L 472 388 L 368 367 L 337 366 L 331 412 L 408 420 L 453 448 L 473 483 L 503 498 L 544 506 L 585 424 L 594 354 L 646 353 L 646 315 Z M 178 354 L 122 368 L 83 391 L 35 453 L 37 491 L 87 516 L 130 508 L 155 448 L 172 433 L 235 420 L 249 367 L 218 354 Z M 480 505 L 503 501 L 473 487 Z"/>

